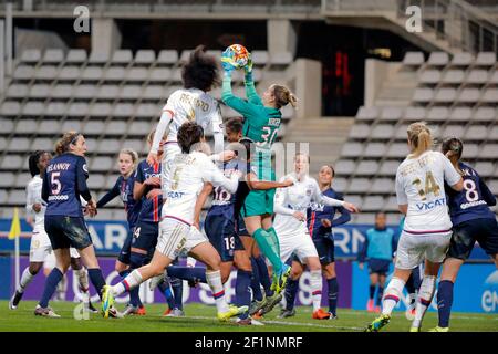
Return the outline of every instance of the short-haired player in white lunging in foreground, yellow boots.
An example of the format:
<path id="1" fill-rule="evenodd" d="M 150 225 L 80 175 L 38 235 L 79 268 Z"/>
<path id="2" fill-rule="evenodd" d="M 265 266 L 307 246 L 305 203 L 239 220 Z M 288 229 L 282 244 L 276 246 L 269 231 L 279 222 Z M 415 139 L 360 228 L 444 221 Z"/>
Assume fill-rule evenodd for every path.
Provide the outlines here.
<path id="1" fill-rule="evenodd" d="M 138 287 L 152 277 L 163 274 L 165 268 L 183 250 L 206 263 L 206 279 L 215 298 L 220 321 L 248 311 L 248 306 L 229 306 L 226 302 L 220 272 L 221 259 L 204 235 L 193 226 L 196 200 L 204 183 L 222 186 L 229 192 L 235 192 L 240 176 L 234 174 L 230 179 L 226 178 L 210 158 L 201 153 L 207 145 L 200 125 L 194 122 L 183 124 L 178 129 L 177 139 L 181 154 L 176 155 L 172 164 L 172 180 L 167 200 L 163 206 L 163 220 L 159 223 L 159 238 L 154 257 L 149 264 L 134 270 L 123 282 L 104 288 L 102 299 L 104 316 L 112 306 L 114 296 Z"/>

